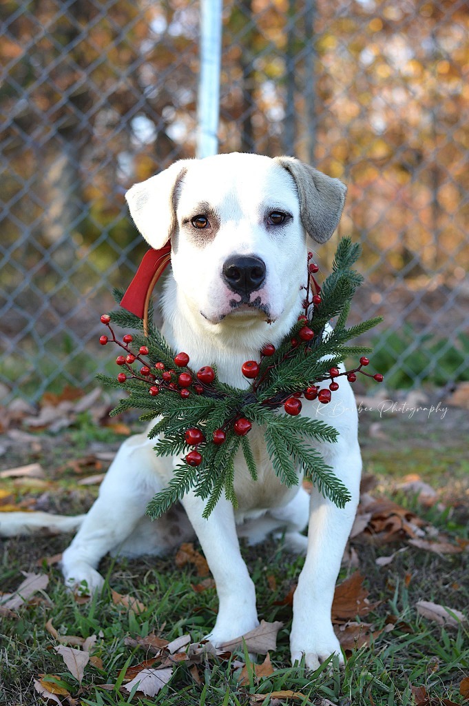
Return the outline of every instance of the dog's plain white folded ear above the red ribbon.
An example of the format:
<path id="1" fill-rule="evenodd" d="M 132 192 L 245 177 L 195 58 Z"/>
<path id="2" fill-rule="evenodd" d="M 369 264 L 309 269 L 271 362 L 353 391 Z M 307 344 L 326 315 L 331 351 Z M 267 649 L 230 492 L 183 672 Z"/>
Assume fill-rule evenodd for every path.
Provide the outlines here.
<path id="1" fill-rule="evenodd" d="M 164 246 L 176 227 L 176 190 L 192 161 L 178 160 L 126 193 L 133 222 L 155 250 Z"/>

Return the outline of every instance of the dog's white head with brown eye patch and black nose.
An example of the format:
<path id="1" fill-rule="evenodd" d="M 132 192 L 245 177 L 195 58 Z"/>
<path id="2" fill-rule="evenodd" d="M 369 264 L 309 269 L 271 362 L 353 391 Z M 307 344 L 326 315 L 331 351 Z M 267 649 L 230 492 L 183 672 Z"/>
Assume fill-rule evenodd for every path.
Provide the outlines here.
<path id="1" fill-rule="evenodd" d="M 126 194 L 155 249 L 171 239 L 178 297 L 212 325 L 276 321 L 305 284 L 306 234 L 324 243 L 346 187 L 293 157 L 180 160 Z"/>

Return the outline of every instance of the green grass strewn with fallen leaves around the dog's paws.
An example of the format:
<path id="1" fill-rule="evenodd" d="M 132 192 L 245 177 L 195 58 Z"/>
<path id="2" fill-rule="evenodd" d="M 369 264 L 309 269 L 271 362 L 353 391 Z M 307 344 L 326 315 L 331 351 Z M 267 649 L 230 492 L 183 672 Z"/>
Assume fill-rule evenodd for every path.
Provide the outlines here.
<path id="1" fill-rule="evenodd" d="M 425 433 L 418 420 L 415 421 L 413 433 L 408 426 L 403 429 L 402 425 L 402 419 L 384 420 L 387 440 L 373 442 L 367 438 L 367 425 L 362 424 L 365 469 L 372 469 L 378 474 L 383 489 L 389 489 L 389 478 L 394 482 L 417 469 L 422 479 L 430 482 L 434 482 L 438 469 L 441 479 L 446 480 L 451 474 L 458 483 L 463 481 L 467 473 L 462 455 L 467 429 L 461 427 L 458 432 L 461 438 L 456 432 L 450 438 L 446 429 L 437 425 L 426 429 Z M 459 429 L 456 424 L 454 426 Z M 89 421 L 86 421 L 81 429 L 72 431 L 72 445 L 75 443 L 81 449 L 86 436 L 102 440 L 101 432 L 89 427 Z M 71 444 L 70 434 L 67 434 L 55 438 L 54 459 L 57 465 L 60 456 L 57 449 L 61 443 L 66 448 Z M 114 437 L 107 441 L 115 442 Z M 64 448 L 60 462 L 63 462 L 63 453 Z M 68 485 L 58 488 L 59 493 L 68 490 Z M 451 489 L 448 493 L 451 496 Z M 450 504 L 446 510 L 437 506 L 424 510 L 415 498 L 401 495 L 394 499 L 402 504 L 407 503 L 408 507 L 440 530 L 452 536 L 468 537 L 467 503 L 456 503 L 454 508 Z M 37 560 L 61 551 L 69 539 L 35 537 L 34 540 L 11 539 L 4 542 L 0 563 L 1 590 L 17 587 L 22 578 L 20 570 L 39 570 Z M 304 697 L 281 701 L 285 703 L 319 705 L 327 703 L 324 700 L 328 699 L 340 706 L 406 706 L 415 704 L 412 686 L 425 687 L 432 697 L 431 706 L 442 703 L 443 699 L 462 705 L 459 685 L 469 673 L 467 630 L 464 626 L 441 628 L 419 616 L 415 604 L 423 599 L 454 609 L 467 608 L 467 558 L 464 554 L 439 556 L 408 547 L 396 556 L 391 565 L 379 568 L 375 563 L 377 556 L 391 554 L 399 546 L 393 544 L 378 549 L 369 544 L 355 543 L 360 571 L 365 575 L 365 585 L 370 590 L 370 601 L 378 602 L 366 621 L 372 622 L 378 631 L 390 623 L 394 623 L 393 629 L 382 632 L 371 647 L 353 651 L 343 671 L 336 669 L 336 665 L 334 668 L 333 664 L 331 671 L 319 669 L 313 674 L 305 672 L 302 666 L 290 666 L 288 633 L 291 607 L 276 604 L 284 599 L 295 582 L 303 559 L 292 559 L 282 550 L 281 544 L 274 542 L 257 548 L 244 546 L 243 556 L 257 587 L 260 618 L 284 623 L 284 628 L 279 631 L 277 650 L 270 655 L 274 674 L 261 680 L 251 675 L 250 683 L 240 686 L 239 670 L 233 669 L 231 662 L 210 659 L 200 665 L 199 684 L 194 681 L 187 666 L 180 664 L 176 666 L 169 684 L 152 698 L 130 697 L 118 689 L 127 666 L 147 658 L 142 648 L 126 646 L 126 636 L 145 637 L 154 632 L 172 640 L 189 632 L 194 641 L 199 640 L 214 623 L 217 611 L 214 590 L 195 592 L 193 584 L 200 579 L 190 567 L 176 568 L 173 556 L 120 562 L 106 558 L 101 566 L 102 573 L 106 575 L 104 591 L 92 601 L 80 605 L 64 590 L 59 570 L 42 563 L 40 570 L 49 575 L 47 592 L 39 601 L 21 608 L 19 619 L 1 618 L 0 703 L 5 706 L 42 704 L 32 687 L 32 680 L 39 674 L 49 674 L 66 684 L 66 688 L 78 699 L 78 704 L 87 706 L 124 706 L 130 703 L 142 706 L 248 706 L 254 703 L 254 694 L 265 695 L 264 700 L 257 703 L 267 706 L 271 702 L 269 693 L 286 689 L 301 693 Z M 346 575 L 344 568 L 341 578 Z M 146 606 L 145 611 L 134 614 L 122 606 L 116 606 L 111 599 L 110 587 L 139 599 Z M 51 649 L 54 640 L 45 629 L 49 619 L 63 635 L 83 638 L 99 635 L 95 654 L 102 658 L 103 668 L 88 664 L 81 687 L 68 672 L 61 657 Z M 242 651 L 239 656 L 243 658 Z M 103 684 L 115 684 L 116 688 L 109 691 L 102 688 Z"/>

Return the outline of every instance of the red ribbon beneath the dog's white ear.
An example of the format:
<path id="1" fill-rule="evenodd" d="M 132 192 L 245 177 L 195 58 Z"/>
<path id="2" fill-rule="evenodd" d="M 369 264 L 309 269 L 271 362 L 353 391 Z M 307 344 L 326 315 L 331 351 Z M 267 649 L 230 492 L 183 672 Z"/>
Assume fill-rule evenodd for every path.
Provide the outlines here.
<path id="1" fill-rule="evenodd" d="M 121 306 L 123 309 L 135 313 L 138 318 L 143 318 L 145 301 L 149 294 L 148 289 L 150 286 L 153 289 L 164 269 L 169 265 L 170 253 L 171 244 L 169 241 L 161 249 L 151 248 L 145 253 L 132 282 L 128 285 L 126 294 L 122 297 Z"/>

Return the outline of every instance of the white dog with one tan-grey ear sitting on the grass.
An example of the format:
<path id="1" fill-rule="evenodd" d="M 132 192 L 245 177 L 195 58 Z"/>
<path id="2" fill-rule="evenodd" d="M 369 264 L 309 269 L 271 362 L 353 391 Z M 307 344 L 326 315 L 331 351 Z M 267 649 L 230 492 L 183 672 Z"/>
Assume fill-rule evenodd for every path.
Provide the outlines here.
<path id="1" fill-rule="evenodd" d="M 176 352 L 189 354 L 193 369 L 214 363 L 221 381 L 248 386 L 243 362 L 257 359 L 267 342 L 278 345 L 296 322 L 306 237 L 319 243 L 331 237 L 345 193 L 339 180 L 291 157 L 238 153 L 181 160 L 128 191 L 130 213 L 148 243 L 159 249 L 171 238 L 162 333 Z M 305 653 L 310 669 L 331 653 L 342 659 L 331 603 L 358 503 L 361 459 L 358 415 L 344 377 L 335 399 L 345 410 L 331 419 L 339 441 L 318 446 L 351 493 L 345 509 L 314 488 L 308 496 L 301 482 L 293 488 L 282 485 L 262 429 L 254 427 L 250 443 L 259 479 L 252 480 L 238 455 L 238 510 L 222 498 L 204 520 L 204 502 L 190 492 L 183 509 L 178 505 L 152 523 L 146 505 L 169 481 L 178 459 L 157 457 L 155 441 L 142 433 L 123 443 L 97 501 L 84 519 L 78 518 L 80 530 L 63 554 L 67 585 L 85 581 L 96 590 L 102 585 L 97 566 L 107 552 L 162 554 L 195 530 L 219 597 L 217 621 L 207 637 L 222 645 L 258 624 L 255 587 L 238 537 L 259 542 L 269 532 L 284 532 L 287 549 L 306 553 L 293 599 L 291 659 Z M 328 412 L 329 405 L 317 400 L 303 402 L 307 416 L 327 421 Z M 300 533 L 308 522 L 306 538 Z"/>

